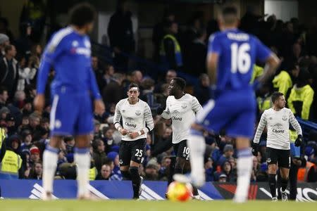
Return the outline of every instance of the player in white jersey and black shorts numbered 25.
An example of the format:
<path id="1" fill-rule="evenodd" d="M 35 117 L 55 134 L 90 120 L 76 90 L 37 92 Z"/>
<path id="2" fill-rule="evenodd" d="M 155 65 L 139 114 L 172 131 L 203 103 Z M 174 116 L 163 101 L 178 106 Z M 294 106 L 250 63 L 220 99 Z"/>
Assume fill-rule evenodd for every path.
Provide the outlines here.
<path id="1" fill-rule="evenodd" d="M 123 124 L 120 124 L 121 117 Z M 113 122 L 122 134 L 119 149 L 120 171 L 123 179 L 132 181 L 133 198 L 139 198 L 143 178 L 139 176 L 138 170 L 144 159 L 147 133 L 154 128 L 154 121 L 149 105 L 139 99 L 137 84 L 130 84 L 128 98 L 117 103 Z"/>

